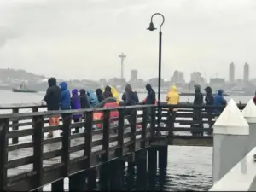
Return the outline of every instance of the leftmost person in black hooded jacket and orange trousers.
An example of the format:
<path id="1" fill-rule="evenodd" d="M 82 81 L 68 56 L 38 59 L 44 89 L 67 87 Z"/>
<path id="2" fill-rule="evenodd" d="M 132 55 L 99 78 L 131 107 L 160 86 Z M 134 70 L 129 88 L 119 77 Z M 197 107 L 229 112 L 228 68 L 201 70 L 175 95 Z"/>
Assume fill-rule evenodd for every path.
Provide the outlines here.
<path id="1" fill-rule="evenodd" d="M 55 78 L 50 78 L 48 80 L 49 88 L 46 90 L 46 94 L 44 96 L 44 101 L 47 105 L 48 111 L 56 111 L 60 110 L 61 103 L 61 88 L 57 86 L 57 81 Z M 59 125 L 60 119 L 58 116 L 49 118 L 49 125 Z M 49 138 L 53 137 L 53 131 L 49 131 Z"/>

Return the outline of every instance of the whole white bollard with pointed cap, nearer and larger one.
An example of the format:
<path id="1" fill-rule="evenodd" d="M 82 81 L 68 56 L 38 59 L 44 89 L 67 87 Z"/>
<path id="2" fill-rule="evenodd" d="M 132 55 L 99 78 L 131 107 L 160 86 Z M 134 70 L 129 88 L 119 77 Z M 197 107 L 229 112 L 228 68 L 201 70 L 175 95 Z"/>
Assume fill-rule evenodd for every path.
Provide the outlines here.
<path id="1" fill-rule="evenodd" d="M 213 125 L 213 184 L 247 154 L 248 135 L 249 125 L 231 99 Z"/>

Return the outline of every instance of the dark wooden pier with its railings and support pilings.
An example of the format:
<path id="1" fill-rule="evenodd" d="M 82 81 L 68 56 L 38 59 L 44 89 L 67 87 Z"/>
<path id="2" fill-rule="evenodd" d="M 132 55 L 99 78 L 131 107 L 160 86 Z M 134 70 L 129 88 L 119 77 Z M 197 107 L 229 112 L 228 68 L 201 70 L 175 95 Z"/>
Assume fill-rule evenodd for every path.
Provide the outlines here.
<path id="1" fill-rule="evenodd" d="M 29 108 L 32 113 L 24 113 Z M 193 121 L 195 108 L 201 109 L 202 122 Z M 209 107 L 163 104 L 158 127 L 158 111 L 153 105 L 53 112 L 44 111 L 45 106 L 2 106 L 1 110 L 12 113 L 0 115 L 0 189 L 42 190 L 51 183 L 52 190 L 63 190 L 68 177 L 69 190 L 95 189 L 96 178 L 100 189 L 118 190 L 125 162 L 127 172 L 134 172 L 136 167 L 137 177 L 143 178 L 147 172 L 156 172 L 157 162 L 160 167 L 167 165 L 168 144 L 212 146 L 205 108 Z M 110 118 L 113 110 L 119 111 L 119 118 Z M 96 112 L 103 113 L 103 119 L 94 120 Z M 77 113 L 84 115 L 83 122 L 73 123 L 72 115 Z M 49 126 L 49 117 L 55 115 L 64 116 L 61 125 Z M 214 118 L 212 113 L 211 124 Z M 110 121 L 118 124 L 111 127 Z M 210 134 L 192 136 L 190 125 L 196 123 L 205 127 L 198 131 Z M 102 124 L 102 129 L 94 130 L 95 124 Z M 76 127 L 83 127 L 83 131 L 72 134 Z M 46 138 L 50 130 L 63 134 Z"/>

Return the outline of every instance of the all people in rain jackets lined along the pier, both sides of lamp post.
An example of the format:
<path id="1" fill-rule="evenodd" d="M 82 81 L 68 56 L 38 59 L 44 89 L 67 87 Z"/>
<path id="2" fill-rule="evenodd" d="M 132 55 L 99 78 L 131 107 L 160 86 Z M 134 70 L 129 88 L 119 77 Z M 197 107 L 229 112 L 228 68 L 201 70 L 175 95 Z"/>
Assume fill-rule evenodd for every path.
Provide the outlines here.
<path id="1" fill-rule="evenodd" d="M 44 101 L 47 103 L 47 109 L 49 111 L 55 110 L 69 110 L 69 109 L 80 109 L 80 108 L 97 108 L 99 107 L 99 103 L 104 101 L 109 97 L 115 98 L 115 102 L 118 103 L 118 106 L 132 106 L 136 105 L 139 102 L 139 98 L 137 96 L 137 92 L 132 90 L 131 84 L 125 85 L 125 92 L 121 96 L 122 102 L 119 102 L 119 93 L 111 86 L 106 86 L 105 90 L 96 89 L 93 90 L 78 90 L 73 89 L 72 95 L 68 90 L 67 83 L 61 82 L 59 86 L 57 85 L 57 81 L 55 78 L 50 78 L 48 80 L 49 88 L 46 91 L 44 96 Z M 155 104 L 155 92 L 151 86 L 151 84 L 146 85 L 146 90 L 148 94 L 146 98 L 143 100 L 145 104 Z M 215 105 L 215 106 L 223 106 L 226 104 L 226 100 L 223 96 L 223 90 L 218 90 L 218 94 L 216 96 L 212 95 L 212 88 L 207 86 L 205 89 L 206 97 L 205 102 L 206 105 Z M 170 105 L 176 105 L 179 102 L 179 94 L 177 92 L 177 87 L 172 86 L 166 96 L 166 102 Z M 201 93 L 200 85 L 195 85 L 195 98 L 194 104 L 195 105 L 202 105 L 204 102 L 203 94 Z M 177 111 L 177 109 L 174 109 Z M 214 109 L 207 108 L 208 114 L 208 121 L 209 126 L 212 126 L 212 113 L 216 113 L 217 115 L 222 112 L 221 109 Z M 129 113 L 129 110 L 127 111 Z M 61 115 L 62 119 L 65 119 L 65 114 Z M 79 122 L 82 118 L 81 114 L 74 114 L 73 121 Z M 197 121 L 202 121 L 201 117 L 201 109 L 194 109 L 193 110 L 193 119 Z M 59 125 L 59 117 L 54 116 L 49 118 L 49 125 Z M 76 128 L 73 133 L 79 132 L 79 128 Z M 49 131 L 48 137 L 53 137 L 53 132 Z"/>

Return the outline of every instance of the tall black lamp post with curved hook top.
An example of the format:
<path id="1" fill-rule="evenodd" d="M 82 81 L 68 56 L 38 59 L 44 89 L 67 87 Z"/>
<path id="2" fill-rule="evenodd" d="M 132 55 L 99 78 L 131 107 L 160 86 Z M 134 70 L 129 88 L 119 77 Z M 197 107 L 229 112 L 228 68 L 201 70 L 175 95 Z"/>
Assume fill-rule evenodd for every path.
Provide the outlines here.
<path id="1" fill-rule="evenodd" d="M 162 31 L 161 31 L 161 27 L 163 26 L 164 22 L 165 22 L 165 17 L 164 15 L 160 14 L 160 13 L 155 13 L 154 15 L 160 15 L 163 18 L 163 21 L 160 25 L 159 28 L 159 60 L 158 60 L 158 101 L 157 101 L 157 106 L 158 106 L 158 118 L 157 118 L 157 135 L 160 135 L 160 94 L 161 94 L 161 57 L 162 57 Z M 148 27 L 149 31 L 154 31 L 156 30 L 156 28 L 154 27 L 153 24 L 153 17 L 154 15 L 151 16 L 151 21 Z"/>

